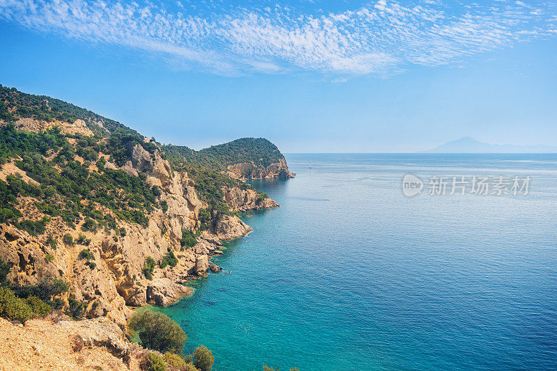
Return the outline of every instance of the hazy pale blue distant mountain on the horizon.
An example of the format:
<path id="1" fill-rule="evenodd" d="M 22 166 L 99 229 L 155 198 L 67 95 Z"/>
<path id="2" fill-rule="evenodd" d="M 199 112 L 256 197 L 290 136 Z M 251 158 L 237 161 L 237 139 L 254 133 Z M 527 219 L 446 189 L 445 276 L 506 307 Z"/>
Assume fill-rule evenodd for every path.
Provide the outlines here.
<path id="1" fill-rule="evenodd" d="M 491 144 L 476 141 L 466 136 L 456 141 L 450 141 L 425 153 L 557 153 L 557 147 L 552 145 L 514 145 Z"/>

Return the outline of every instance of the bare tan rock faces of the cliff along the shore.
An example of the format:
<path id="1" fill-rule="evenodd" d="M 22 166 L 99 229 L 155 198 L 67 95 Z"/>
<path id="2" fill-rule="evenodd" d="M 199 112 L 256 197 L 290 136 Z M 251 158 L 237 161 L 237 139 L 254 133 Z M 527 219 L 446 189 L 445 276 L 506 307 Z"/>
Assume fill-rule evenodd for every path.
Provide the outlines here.
<path id="1" fill-rule="evenodd" d="M 86 132 L 82 122 L 77 121 L 77 127 L 64 125 L 63 131 L 91 134 Z M 40 131 L 40 125 L 40 122 L 27 119 L 20 127 Z M 70 143 L 75 141 L 70 139 Z M 198 230 L 201 227 L 200 210 L 207 207 L 198 198 L 194 180 L 186 172 L 173 171 L 159 150 L 148 152 L 143 145 L 136 144 L 130 153 L 123 166 L 116 166 L 102 152 L 99 157 L 106 160 L 104 168 L 119 169 L 132 177 L 143 176 L 150 187 L 158 187 L 160 205 L 164 203 L 167 209 L 155 207 L 147 214 L 145 225 L 141 225 L 118 219 L 113 210 L 95 204 L 95 210 L 114 217 L 117 228 L 99 228 L 94 232 L 82 228 L 85 218 L 72 227 L 61 216 L 54 216 L 40 234 L 1 223 L 0 257 L 4 262 L 13 263 L 8 275 L 13 284 L 36 285 L 41 281 L 62 279 L 70 283 L 71 297 L 84 303 L 86 317 L 108 317 L 125 328 L 126 320 L 132 314 L 130 308 L 146 303 L 166 306 L 189 294 L 191 289 L 182 283 L 206 274 L 210 256 L 220 253 L 221 241 L 251 231 L 237 216 L 222 214 L 213 221 L 210 230 L 204 230 L 196 237 L 195 246 L 182 247 L 182 231 Z M 14 161 L 1 166 L 0 179 L 6 180 L 8 175 L 16 173 L 24 181 L 36 182 L 27 177 Z M 87 166 L 77 155 L 76 161 Z M 93 166 L 89 168 L 93 171 Z M 265 176 L 278 174 L 278 168 L 269 170 Z M 226 205 L 232 211 L 278 206 L 269 198 L 260 198 L 252 189 L 229 188 L 224 194 Z M 17 202 L 24 218 L 39 221 L 45 216 L 35 199 L 18 196 Z M 72 242 L 68 242 L 68 235 Z M 84 250 L 91 255 L 84 256 Z M 175 255 L 175 266 L 157 266 L 152 279 L 148 279 L 144 271 L 146 259 L 151 257 L 160 262 L 169 252 Z M 63 299 L 67 299 L 67 295 Z"/>

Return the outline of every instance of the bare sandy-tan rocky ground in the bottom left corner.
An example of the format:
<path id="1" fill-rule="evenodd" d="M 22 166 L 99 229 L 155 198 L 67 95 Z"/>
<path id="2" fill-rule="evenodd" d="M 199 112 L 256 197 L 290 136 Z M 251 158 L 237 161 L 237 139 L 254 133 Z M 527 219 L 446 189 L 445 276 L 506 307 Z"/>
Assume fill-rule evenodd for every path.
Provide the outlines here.
<path id="1" fill-rule="evenodd" d="M 58 323 L 31 319 L 25 326 L 0 318 L 0 338 L 1 371 L 139 371 L 140 347 L 102 317 Z"/>

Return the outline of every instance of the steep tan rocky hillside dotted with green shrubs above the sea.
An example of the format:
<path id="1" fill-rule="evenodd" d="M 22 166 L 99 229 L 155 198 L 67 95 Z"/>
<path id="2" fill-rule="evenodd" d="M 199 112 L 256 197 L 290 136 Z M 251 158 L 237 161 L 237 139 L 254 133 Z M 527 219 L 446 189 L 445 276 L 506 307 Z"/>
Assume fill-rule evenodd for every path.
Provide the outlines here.
<path id="1" fill-rule="evenodd" d="M 0 90 L 0 285 L 18 297 L 125 329 L 130 308 L 189 294 L 183 284 L 207 274 L 221 242 L 251 231 L 237 212 L 278 206 L 116 121 Z M 215 164 L 276 159 L 254 142 L 265 148 L 199 152 Z"/>

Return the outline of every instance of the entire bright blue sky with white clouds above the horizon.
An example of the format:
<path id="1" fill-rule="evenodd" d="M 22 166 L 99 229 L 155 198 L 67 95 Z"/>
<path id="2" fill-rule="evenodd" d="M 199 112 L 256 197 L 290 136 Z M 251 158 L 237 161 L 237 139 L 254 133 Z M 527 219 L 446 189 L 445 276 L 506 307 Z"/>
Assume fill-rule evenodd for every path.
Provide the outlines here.
<path id="1" fill-rule="evenodd" d="M 556 1 L 0 0 L 0 84 L 162 143 L 557 145 Z"/>

